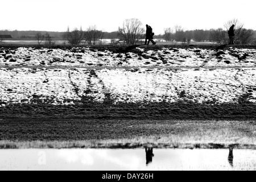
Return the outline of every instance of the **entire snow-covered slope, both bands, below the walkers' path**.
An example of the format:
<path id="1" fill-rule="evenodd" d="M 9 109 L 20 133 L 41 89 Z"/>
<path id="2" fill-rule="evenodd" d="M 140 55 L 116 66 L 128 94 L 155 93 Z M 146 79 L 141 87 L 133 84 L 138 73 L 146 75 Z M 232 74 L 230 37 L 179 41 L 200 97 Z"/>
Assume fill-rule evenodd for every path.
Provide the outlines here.
<path id="1" fill-rule="evenodd" d="M 243 96 L 256 102 L 255 49 L 137 49 L 141 53 L 89 48 L 0 49 L 0 107 L 30 104 L 35 98 L 52 105 L 72 105 L 85 97 L 97 102 L 110 97 L 114 104 L 145 101 L 220 104 L 236 103 Z M 49 66 L 55 68 L 47 69 Z M 67 68 L 58 68 L 61 66 Z"/>

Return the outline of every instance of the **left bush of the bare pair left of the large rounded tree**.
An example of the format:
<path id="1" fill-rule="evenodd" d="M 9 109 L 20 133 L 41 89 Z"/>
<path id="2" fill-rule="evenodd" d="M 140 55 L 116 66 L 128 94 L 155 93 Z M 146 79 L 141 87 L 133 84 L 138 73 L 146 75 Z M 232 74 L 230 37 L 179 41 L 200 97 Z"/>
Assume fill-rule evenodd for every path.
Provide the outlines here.
<path id="1" fill-rule="evenodd" d="M 68 42 L 72 45 L 79 45 L 81 41 L 84 39 L 84 31 L 82 31 L 82 27 L 80 30 L 75 28 L 73 31 L 69 31 L 69 27 L 67 32 L 63 35 L 64 39 L 68 40 Z"/>

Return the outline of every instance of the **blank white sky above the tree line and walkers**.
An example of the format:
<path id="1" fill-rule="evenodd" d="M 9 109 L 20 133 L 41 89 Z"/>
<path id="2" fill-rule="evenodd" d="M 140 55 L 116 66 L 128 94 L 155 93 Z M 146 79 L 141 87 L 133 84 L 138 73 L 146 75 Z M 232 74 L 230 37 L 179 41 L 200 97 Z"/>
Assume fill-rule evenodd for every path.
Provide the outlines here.
<path id="1" fill-rule="evenodd" d="M 235 18 L 256 30 L 255 0 L 1 0 L 0 5 L 0 30 L 86 30 L 95 25 L 112 32 L 130 18 L 149 24 L 155 34 L 175 25 L 209 30 Z"/>

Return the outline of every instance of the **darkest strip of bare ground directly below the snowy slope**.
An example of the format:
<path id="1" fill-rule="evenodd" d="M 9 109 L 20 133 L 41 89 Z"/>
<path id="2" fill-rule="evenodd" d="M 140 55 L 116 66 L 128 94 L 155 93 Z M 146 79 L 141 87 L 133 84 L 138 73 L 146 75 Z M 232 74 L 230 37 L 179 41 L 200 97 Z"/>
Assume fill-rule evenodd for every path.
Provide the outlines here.
<path id="1" fill-rule="evenodd" d="M 83 98 L 80 104 L 10 104 L 0 107 L 0 118 L 89 118 L 89 119 L 256 119 L 256 105 L 246 100 L 238 104 L 198 104 L 193 102 L 149 102 L 112 104 Z M 82 102 L 82 104 L 81 104 Z"/>

